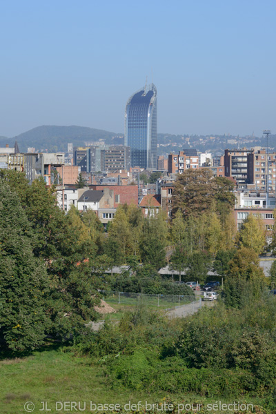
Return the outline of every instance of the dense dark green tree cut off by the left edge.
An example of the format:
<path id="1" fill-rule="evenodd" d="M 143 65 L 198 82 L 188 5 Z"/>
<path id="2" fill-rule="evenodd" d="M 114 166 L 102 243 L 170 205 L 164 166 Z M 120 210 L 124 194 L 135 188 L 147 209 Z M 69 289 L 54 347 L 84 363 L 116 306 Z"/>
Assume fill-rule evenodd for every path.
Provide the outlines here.
<path id="1" fill-rule="evenodd" d="M 19 197 L 0 179 L 0 339 L 14 351 L 40 346 L 49 328 L 48 278 L 33 237 Z"/>

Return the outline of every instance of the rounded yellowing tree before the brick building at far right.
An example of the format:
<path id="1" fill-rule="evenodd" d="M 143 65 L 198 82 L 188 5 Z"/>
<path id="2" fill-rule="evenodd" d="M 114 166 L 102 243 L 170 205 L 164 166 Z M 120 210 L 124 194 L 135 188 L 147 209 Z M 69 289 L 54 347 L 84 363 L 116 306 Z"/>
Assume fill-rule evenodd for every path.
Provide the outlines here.
<path id="1" fill-rule="evenodd" d="M 266 230 L 261 217 L 248 215 L 236 239 L 238 246 L 250 248 L 257 255 L 262 253 L 266 245 Z"/>

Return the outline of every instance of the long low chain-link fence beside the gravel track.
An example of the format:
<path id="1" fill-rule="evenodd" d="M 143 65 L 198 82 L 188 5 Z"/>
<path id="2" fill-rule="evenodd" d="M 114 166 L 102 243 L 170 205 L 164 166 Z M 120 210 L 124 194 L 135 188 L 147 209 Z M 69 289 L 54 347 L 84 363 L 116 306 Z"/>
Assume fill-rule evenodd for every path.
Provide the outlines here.
<path id="1" fill-rule="evenodd" d="M 145 293 L 108 292 L 104 300 L 110 304 L 152 306 L 157 308 L 175 308 L 199 299 L 194 295 L 148 295 Z"/>

